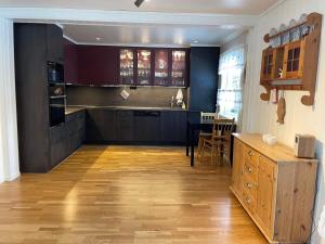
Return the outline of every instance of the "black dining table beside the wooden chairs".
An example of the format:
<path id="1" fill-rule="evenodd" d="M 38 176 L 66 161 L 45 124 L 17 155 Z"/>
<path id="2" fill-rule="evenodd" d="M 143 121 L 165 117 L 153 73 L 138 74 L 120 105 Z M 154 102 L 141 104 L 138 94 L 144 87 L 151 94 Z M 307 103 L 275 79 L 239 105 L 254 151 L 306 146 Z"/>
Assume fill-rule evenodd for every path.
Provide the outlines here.
<path id="1" fill-rule="evenodd" d="M 212 131 L 213 119 L 202 119 L 199 113 L 188 113 L 186 127 L 186 156 L 191 156 L 191 167 L 194 167 L 194 150 L 197 143 L 195 132 L 197 131 Z M 236 131 L 236 125 L 234 131 Z M 191 149 L 191 152 L 190 152 Z M 231 139 L 230 158 L 233 158 L 233 137 Z M 231 162 L 232 163 L 232 162 Z"/>

